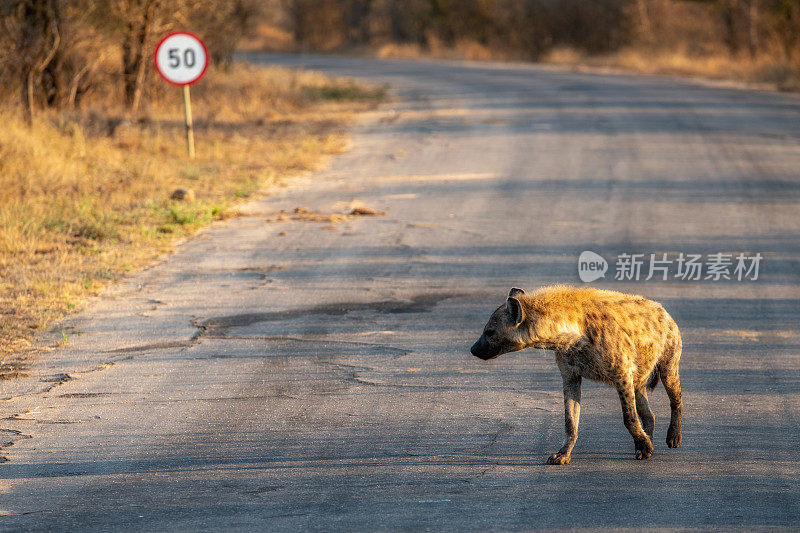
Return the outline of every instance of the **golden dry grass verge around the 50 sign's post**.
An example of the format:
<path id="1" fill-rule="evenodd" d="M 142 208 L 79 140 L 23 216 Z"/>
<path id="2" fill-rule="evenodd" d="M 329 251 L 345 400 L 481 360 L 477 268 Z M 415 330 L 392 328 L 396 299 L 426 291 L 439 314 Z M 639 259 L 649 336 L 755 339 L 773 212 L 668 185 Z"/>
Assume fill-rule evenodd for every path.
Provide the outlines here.
<path id="1" fill-rule="evenodd" d="M 0 375 L 19 375 L 33 335 L 85 297 L 340 151 L 342 125 L 383 95 L 314 73 L 211 70 L 192 88 L 194 160 L 166 84 L 133 121 L 84 110 L 29 128 L 0 111 Z M 195 199 L 170 200 L 178 187 Z"/>

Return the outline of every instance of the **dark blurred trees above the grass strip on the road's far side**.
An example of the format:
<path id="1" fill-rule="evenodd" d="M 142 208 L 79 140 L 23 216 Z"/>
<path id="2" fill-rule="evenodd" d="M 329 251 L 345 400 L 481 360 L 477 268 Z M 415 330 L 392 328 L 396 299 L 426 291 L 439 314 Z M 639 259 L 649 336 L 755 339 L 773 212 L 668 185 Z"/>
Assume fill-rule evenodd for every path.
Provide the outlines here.
<path id="1" fill-rule="evenodd" d="M 536 59 L 556 46 L 586 53 L 629 45 L 724 47 L 800 59 L 797 0 L 289 0 L 295 40 L 455 46 L 474 41 Z M 274 12 L 274 9 L 273 9 Z"/>

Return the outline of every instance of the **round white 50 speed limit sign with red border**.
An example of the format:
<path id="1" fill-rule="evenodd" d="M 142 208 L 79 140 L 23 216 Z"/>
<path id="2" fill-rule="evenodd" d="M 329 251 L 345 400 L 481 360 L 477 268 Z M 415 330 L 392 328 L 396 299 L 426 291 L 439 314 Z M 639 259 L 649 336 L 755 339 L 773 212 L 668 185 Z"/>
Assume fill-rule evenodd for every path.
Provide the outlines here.
<path id="1" fill-rule="evenodd" d="M 156 70 L 173 85 L 191 85 L 208 68 L 208 50 L 200 38 L 186 31 L 170 33 L 158 43 Z"/>

